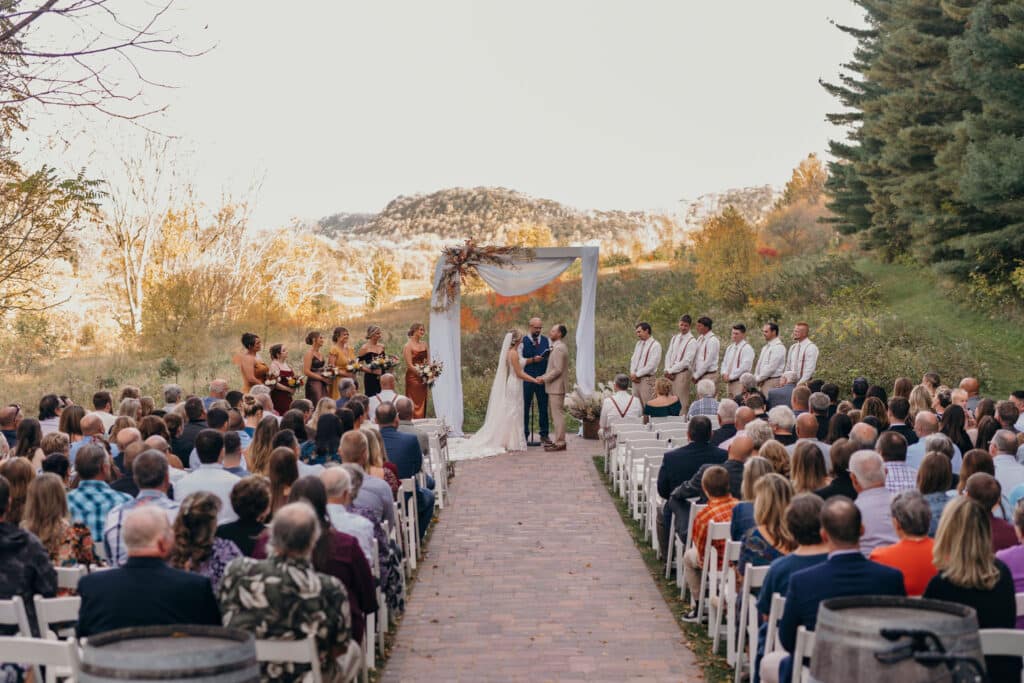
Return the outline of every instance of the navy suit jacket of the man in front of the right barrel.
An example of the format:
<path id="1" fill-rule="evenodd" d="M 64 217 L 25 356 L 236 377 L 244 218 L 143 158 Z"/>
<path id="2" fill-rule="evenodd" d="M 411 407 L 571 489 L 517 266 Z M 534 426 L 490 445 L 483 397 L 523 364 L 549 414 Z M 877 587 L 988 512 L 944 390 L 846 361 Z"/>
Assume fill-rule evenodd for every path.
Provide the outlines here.
<path id="1" fill-rule="evenodd" d="M 778 623 L 779 643 L 787 652 L 793 652 L 797 645 L 797 629 L 814 630 L 822 600 L 851 595 L 905 596 L 903 573 L 870 561 L 859 551 L 836 555 L 821 564 L 797 571 L 790 577 L 785 609 Z M 779 667 L 779 680 L 788 681 L 792 673 L 793 660 L 786 657 Z"/>

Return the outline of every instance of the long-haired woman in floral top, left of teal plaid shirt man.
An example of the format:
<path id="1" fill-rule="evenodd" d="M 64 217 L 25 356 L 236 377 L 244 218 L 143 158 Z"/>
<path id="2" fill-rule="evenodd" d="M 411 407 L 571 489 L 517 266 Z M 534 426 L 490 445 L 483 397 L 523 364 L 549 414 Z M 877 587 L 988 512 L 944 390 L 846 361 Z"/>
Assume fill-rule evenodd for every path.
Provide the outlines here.
<path id="1" fill-rule="evenodd" d="M 57 566 L 99 564 L 89 527 L 71 521 L 68 495 L 56 474 L 44 472 L 29 484 L 22 528 L 36 535 Z"/>

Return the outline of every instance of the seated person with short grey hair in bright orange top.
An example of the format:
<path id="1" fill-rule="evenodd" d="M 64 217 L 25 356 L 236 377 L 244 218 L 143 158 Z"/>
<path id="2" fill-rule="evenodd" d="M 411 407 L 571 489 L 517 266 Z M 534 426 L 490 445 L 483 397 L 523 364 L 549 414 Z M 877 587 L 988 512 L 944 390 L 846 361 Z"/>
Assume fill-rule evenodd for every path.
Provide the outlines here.
<path id="1" fill-rule="evenodd" d="M 868 557 L 879 564 L 899 569 L 906 594 L 918 597 L 936 574 L 932 560 L 934 544 L 928 536 L 932 511 L 920 493 L 903 490 L 893 497 L 892 517 L 899 541 L 892 546 L 876 548 Z"/>

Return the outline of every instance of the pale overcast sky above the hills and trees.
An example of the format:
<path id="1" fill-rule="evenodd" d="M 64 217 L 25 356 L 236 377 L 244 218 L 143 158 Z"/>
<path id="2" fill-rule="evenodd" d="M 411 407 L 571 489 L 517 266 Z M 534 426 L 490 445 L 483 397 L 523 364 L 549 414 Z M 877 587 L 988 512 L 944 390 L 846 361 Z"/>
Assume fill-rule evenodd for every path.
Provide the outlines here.
<path id="1" fill-rule="evenodd" d="M 502 185 L 579 208 L 674 209 L 781 185 L 836 131 L 818 85 L 848 59 L 849 0 L 178 0 L 195 59 L 150 124 L 207 202 L 262 181 L 257 227 Z M 73 128 L 73 127 L 72 127 Z M 62 155 L 111 168 L 137 131 Z"/>

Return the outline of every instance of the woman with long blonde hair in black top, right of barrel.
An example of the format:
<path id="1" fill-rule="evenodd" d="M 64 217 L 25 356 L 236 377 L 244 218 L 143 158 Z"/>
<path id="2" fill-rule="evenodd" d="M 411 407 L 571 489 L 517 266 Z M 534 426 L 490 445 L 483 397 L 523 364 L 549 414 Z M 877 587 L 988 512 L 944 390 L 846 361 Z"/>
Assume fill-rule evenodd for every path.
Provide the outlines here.
<path id="1" fill-rule="evenodd" d="M 977 475 L 975 475 L 977 476 Z M 974 608 L 981 629 L 1013 629 L 1017 624 L 1014 579 L 992 556 L 991 513 L 966 496 L 949 502 L 935 536 L 935 566 L 924 597 Z M 992 681 L 1019 681 L 1021 658 L 985 657 Z"/>

